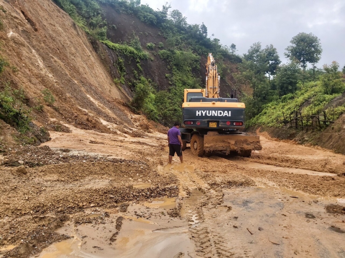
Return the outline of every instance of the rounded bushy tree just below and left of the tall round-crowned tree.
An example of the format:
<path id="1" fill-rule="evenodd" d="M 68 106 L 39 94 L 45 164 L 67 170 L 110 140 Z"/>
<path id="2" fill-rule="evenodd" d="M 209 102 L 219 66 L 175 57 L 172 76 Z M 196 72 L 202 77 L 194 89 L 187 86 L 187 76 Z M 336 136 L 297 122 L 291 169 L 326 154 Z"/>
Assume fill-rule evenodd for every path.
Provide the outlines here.
<path id="1" fill-rule="evenodd" d="M 279 66 L 273 79 L 273 84 L 277 89 L 279 97 L 294 93 L 297 90 L 300 74 L 301 70 L 296 62 Z"/>

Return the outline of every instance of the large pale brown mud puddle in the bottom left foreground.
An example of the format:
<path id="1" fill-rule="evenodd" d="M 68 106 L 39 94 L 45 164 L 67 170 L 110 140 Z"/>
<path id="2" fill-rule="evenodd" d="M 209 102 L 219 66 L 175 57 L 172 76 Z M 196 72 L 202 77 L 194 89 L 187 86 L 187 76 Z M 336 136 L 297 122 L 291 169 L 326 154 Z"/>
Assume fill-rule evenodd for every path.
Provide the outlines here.
<path id="1" fill-rule="evenodd" d="M 162 216 L 164 210 L 160 208 L 151 214 L 152 221 L 131 216 L 134 211 L 139 214 L 143 210 L 147 208 L 142 205 L 130 206 L 130 215 L 122 216 L 120 225 L 114 223 L 120 214 L 110 214 L 101 224 L 67 224 L 57 232 L 73 237 L 49 246 L 39 257 L 197 257 L 184 219 Z"/>

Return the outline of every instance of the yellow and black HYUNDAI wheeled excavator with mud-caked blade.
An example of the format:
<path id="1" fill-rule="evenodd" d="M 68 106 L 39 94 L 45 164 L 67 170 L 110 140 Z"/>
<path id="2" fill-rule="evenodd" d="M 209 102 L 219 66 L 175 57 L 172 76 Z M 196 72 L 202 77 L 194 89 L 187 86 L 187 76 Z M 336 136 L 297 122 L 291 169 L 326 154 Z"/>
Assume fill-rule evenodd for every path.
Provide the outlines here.
<path id="1" fill-rule="evenodd" d="M 245 104 L 238 102 L 236 90 L 230 98 L 219 97 L 220 75 L 212 53 L 208 54 L 205 68 L 206 88 L 184 90 L 182 150 L 187 143 L 199 157 L 212 152 L 249 157 L 252 150 L 261 150 L 256 132 L 241 132 L 245 128 Z"/>

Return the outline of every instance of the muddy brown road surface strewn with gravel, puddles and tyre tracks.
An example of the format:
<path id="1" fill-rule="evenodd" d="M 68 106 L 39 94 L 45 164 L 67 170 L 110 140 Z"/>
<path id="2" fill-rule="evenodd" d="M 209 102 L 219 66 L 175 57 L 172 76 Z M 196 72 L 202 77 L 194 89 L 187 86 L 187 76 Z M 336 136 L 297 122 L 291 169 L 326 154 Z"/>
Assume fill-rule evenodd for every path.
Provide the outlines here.
<path id="1" fill-rule="evenodd" d="M 345 257 L 343 155 L 261 136 L 167 165 L 162 133 L 66 126 L 1 157 L 0 257 Z"/>

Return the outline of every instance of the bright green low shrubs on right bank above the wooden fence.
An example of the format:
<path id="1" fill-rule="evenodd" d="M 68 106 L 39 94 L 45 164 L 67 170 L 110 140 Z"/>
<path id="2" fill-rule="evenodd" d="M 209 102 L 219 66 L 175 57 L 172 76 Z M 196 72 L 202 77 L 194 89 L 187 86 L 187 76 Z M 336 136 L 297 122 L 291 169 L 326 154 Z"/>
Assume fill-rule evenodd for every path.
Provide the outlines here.
<path id="1" fill-rule="evenodd" d="M 294 86 L 296 90 L 287 87 L 290 89 L 289 93 L 264 105 L 262 111 L 247 122 L 247 126 L 280 127 L 282 126 L 283 113 L 286 116 L 293 116 L 296 111 L 300 112 L 302 116 L 316 115 L 325 111 L 327 117 L 331 119 L 337 119 L 345 111 L 345 105 L 335 108 L 327 106 L 345 90 L 345 82 L 341 79 L 341 72 L 338 71 L 339 65 L 336 62 L 330 66 L 325 65 L 325 73 L 319 75 L 316 80 L 305 79 L 305 82 L 297 80 L 297 77 L 302 75 L 301 71 L 294 73 L 289 71 L 288 66 L 285 65 L 281 68 L 284 73 L 288 74 L 279 75 L 278 73 L 275 80 L 284 80 L 285 85 Z M 293 67 L 294 65 L 290 66 Z M 288 71 L 286 72 L 286 70 Z"/>

